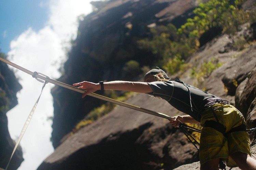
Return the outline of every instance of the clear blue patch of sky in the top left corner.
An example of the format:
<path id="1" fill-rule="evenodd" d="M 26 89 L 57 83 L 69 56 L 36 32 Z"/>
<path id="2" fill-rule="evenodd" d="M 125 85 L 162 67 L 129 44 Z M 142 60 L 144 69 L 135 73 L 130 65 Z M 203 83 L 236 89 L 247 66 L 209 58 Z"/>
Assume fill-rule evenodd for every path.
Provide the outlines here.
<path id="1" fill-rule="evenodd" d="M 45 4 L 44 4 L 45 3 Z M 1 0 L 0 1 L 0 49 L 7 53 L 10 41 L 29 27 L 38 31 L 48 18 L 47 1 Z"/>

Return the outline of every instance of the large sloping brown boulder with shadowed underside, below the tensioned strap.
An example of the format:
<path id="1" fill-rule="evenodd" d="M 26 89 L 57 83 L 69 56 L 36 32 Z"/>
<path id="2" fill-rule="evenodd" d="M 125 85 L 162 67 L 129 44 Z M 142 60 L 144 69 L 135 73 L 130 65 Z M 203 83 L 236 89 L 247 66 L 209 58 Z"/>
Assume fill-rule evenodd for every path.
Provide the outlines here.
<path id="1" fill-rule="evenodd" d="M 176 113 L 167 102 L 148 100 L 145 94 L 127 102 L 144 103 L 142 107 L 161 113 Z M 65 140 L 38 170 L 173 169 L 192 160 L 198 160 L 197 150 L 169 121 L 117 106 Z"/>

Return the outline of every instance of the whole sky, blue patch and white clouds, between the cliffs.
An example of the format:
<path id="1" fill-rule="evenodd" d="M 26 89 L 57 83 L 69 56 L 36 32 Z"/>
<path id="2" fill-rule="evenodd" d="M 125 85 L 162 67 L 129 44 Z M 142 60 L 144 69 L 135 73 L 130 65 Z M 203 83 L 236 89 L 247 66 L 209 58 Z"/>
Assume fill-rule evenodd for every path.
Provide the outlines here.
<path id="1" fill-rule="evenodd" d="M 7 59 L 32 72 L 58 79 L 58 69 L 66 61 L 70 40 L 77 35 L 77 18 L 92 11 L 91 0 L 0 0 L 0 49 Z M 22 85 L 18 105 L 6 114 L 11 138 L 17 140 L 37 100 L 42 83 L 31 75 L 12 69 Z M 76 83 L 76 82 L 74 82 Z M 35 170 L 54 149 L 50 141 L 54 116 L 48 83 L 35 109 L 20 146 L 24 161 L 18 170 Z M 82 98 L 81 98 L 82 99 Z M 0 167 L 5 168 L 5 167 Z"/>

